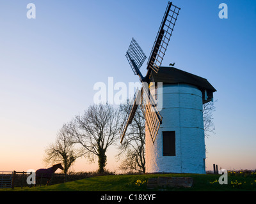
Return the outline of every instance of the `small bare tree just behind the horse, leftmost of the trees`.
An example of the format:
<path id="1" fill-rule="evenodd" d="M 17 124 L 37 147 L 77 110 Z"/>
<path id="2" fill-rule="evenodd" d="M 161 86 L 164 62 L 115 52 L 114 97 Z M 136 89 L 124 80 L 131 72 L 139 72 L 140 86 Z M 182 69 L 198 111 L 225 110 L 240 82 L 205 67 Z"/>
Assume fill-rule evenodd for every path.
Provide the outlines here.
<path id="1" fill-rule="evenodd" d="M 67 174 L 68 168 L 78 157 L 83 156 L 83 149 L 76 149 L 72 136 L 69 133 L 69 126 L 63 124 L 62 128 L 57 134 L 56 142 L 52 143 L 45 149 L 46 156 L 45 163 L 58 163 L 63 164 L 64 173 Z"/>

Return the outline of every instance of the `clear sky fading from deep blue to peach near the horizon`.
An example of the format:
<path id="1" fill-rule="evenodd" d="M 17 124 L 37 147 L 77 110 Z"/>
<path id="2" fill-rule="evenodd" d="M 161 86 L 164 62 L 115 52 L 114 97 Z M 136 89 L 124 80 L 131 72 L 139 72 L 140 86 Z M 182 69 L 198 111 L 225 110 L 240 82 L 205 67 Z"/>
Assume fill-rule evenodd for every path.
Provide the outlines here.
<path id="1" fill-rule="evenodd" d="M 36 6 L 28 19 L 27 4 Z M 138 82 L 125 58 L 132 37 L 147 57 L 168 1 L 0 2 L 0 171 L 44 167 L 62 124 L 93 104 L 93 85 Z M 228 18 L 219 18 L 219 4 Z M 256 169 L 256 1 L 176 0 L 181 8 L 163 66 L 207 78 L 217 89 L 216 134 L 206 166 Z M 145 75 L 145 65 L 141 72 Z M 108 152 L 115 170 L 115 147 Z M 79 159 L 75 171 L 95 170 Z"/>

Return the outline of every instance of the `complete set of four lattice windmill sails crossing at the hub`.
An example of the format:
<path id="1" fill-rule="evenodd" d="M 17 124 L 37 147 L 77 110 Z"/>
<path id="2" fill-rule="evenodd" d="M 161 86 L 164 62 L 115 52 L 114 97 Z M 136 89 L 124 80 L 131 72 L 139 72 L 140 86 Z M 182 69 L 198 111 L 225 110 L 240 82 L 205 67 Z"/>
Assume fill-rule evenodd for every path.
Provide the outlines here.
<path id="1" fill-rule="evenodd" d="M 131 45 L 126 52 L 126 57 L 132 68 L 132 71 L 134 72 L 134 75 L 138 75 L 141 82 L 149 82 L 149 75 L 151 73 L 151 70 L 158 73 L 159 67 L 162 64 L 164 54 L 168 47 L 168 43 L 172 36 L 173 27 L 175 26 L 179 11 L 180 8 L 174 6 L 172 2 L 168 3 L 163 20 L 156 36 L 156 40 L 151 50 L 150 57 L 148 58 L 148 72 L 146 77 L 143 77 L 141 75 L 140 68 L 147 57 L 141 50 L 138 43 L 134 40 L 134 38 L 132 38 Z M 156 140 L 158 129 L 162 123 L 163 118 L 161 117 L 159 111 L 156 108 L 156 103 L 154 101 L 154 98 L 152 97 L 152 94 L 150 93 L 150 91 L 148 91 L 148 85 L 145 85 L 147 83 L 142 84 L 143 87 L 141 88 L 141 91 L 135 94 L 134 104 L 129 106 L 129 110 L 127 112 L 127 115 L 125 116 L 124 124 L 120 129 L 121 143 L 124 139 L 125 132 L 127 131 L 129 124 L 131 124 L 135 112 L 138 108 L 138 101 L 140 101 L 141 110 L 145 117 L 148 132 L 150 133 L 152 141 L 154 142 Z"/>

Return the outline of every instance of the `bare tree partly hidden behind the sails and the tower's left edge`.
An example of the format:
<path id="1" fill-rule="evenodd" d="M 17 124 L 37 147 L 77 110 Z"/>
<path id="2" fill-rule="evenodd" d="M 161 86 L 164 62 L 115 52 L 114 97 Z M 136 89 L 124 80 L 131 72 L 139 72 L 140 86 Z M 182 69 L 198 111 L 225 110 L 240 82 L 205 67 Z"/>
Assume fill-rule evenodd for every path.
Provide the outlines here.
<path id="1" fill-rule="evenodd" d="M 120 105 L 123 117 L 127 114 L 129 103 Z M 129 125 L 122 145 L 119 147 L 118 159 L 122 158 L 120 169 L 145 173 L 145 119 L 138 106 L 132 123 Z"/>

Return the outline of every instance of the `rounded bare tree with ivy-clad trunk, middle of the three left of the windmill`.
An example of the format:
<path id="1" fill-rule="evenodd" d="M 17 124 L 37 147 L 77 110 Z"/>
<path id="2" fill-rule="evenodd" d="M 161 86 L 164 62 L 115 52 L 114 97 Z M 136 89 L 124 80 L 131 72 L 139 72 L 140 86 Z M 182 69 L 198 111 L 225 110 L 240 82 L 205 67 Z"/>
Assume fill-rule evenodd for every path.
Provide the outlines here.
<path id="1" fill-rule="evenodd" d="M 92 105 L 77 115 L 70 130 L 74 140 L 83 145 L 90 161 L 98 158 L 99 173 L 105 171 L 106 152 L 119 135 L 119 111 L 111 105 Z"/>

